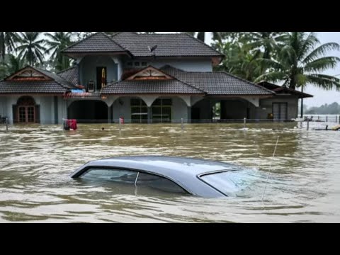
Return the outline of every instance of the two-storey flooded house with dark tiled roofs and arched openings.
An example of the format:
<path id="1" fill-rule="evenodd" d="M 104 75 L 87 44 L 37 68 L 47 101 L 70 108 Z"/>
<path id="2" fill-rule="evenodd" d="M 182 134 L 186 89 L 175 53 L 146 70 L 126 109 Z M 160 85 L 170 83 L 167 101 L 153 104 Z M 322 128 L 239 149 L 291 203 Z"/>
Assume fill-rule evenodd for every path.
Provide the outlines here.
<path id="1" fill-rule="evenodd" d="M 212 72 L 224 56 L 186 33 L 95 33 L 62 53 L 74 67 L 25 67 L 0 81 L 0 115 L 11 123 L 172 123 L 212 120 L 220 103 L 225 120 L 290 120 L 298 98 L 310 96 Z"/>

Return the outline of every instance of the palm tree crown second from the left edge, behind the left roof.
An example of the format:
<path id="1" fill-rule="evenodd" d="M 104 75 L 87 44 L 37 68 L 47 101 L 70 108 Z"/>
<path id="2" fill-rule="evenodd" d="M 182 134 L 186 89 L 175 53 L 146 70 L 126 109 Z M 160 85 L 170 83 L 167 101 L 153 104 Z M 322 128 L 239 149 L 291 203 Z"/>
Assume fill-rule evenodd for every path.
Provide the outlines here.
<path id="1" fill-rule="evenodd" d="M 42 46 L 45 40 L 40 39 L 40 32 L 22 32 L 20 38 L 20 46 L 17 47 L 19 52 L 18 58 L 27 60 L 28 64 L 34 65 L 36 63 L 42 64 L 44 60 L 44 53 L 46 48 Z"/>

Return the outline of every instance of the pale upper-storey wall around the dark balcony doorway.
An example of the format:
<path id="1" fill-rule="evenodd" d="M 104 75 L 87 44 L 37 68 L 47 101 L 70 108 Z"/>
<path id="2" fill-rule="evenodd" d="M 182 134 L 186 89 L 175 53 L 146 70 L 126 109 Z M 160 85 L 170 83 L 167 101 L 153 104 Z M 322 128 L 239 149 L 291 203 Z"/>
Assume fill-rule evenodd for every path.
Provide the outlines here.
<path id="1" fill-rule="evenodd" d="M 80 83 L 81 85 L 87 87 L 89 80 L 93 80 L 96 87 L 96 67 L 106 67 L 106 81 L 110 83 L 111 81 L 118 80 L 118 64 L 115 64 L 113 59 L 109 56 L 86 56 L 84 57 L 80 64 Z"/>

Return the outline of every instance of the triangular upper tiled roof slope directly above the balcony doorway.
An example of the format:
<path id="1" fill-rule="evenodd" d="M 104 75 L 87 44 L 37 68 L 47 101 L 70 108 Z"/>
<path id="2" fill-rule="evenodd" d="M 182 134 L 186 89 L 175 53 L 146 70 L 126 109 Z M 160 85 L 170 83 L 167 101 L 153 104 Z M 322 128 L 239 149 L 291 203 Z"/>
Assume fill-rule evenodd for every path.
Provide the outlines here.
<path id="1" fill-rule="evenodd" d="M 123 47 L 118 45 L 105 33 L 95 33 L 88 38 L 74 43 L 62 50 L 64 53 L 79 53 L 79 52 L 124 52 Z"/>

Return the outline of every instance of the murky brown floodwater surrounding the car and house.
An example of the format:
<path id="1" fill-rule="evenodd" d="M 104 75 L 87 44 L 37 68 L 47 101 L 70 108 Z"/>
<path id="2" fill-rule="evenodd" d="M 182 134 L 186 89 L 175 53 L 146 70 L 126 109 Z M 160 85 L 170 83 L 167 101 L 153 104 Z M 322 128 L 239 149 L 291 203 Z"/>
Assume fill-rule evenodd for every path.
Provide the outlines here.
<path id="1" fill-rule="evenodd" d="M 8 132 L 0 125 L 0 222 L 340 222 L 340 132 L 242 125 L 15 125 Z M 68 176 L 90 160 L 147 154 L 254 170 L 228 198 L 124 190 Z"/>

